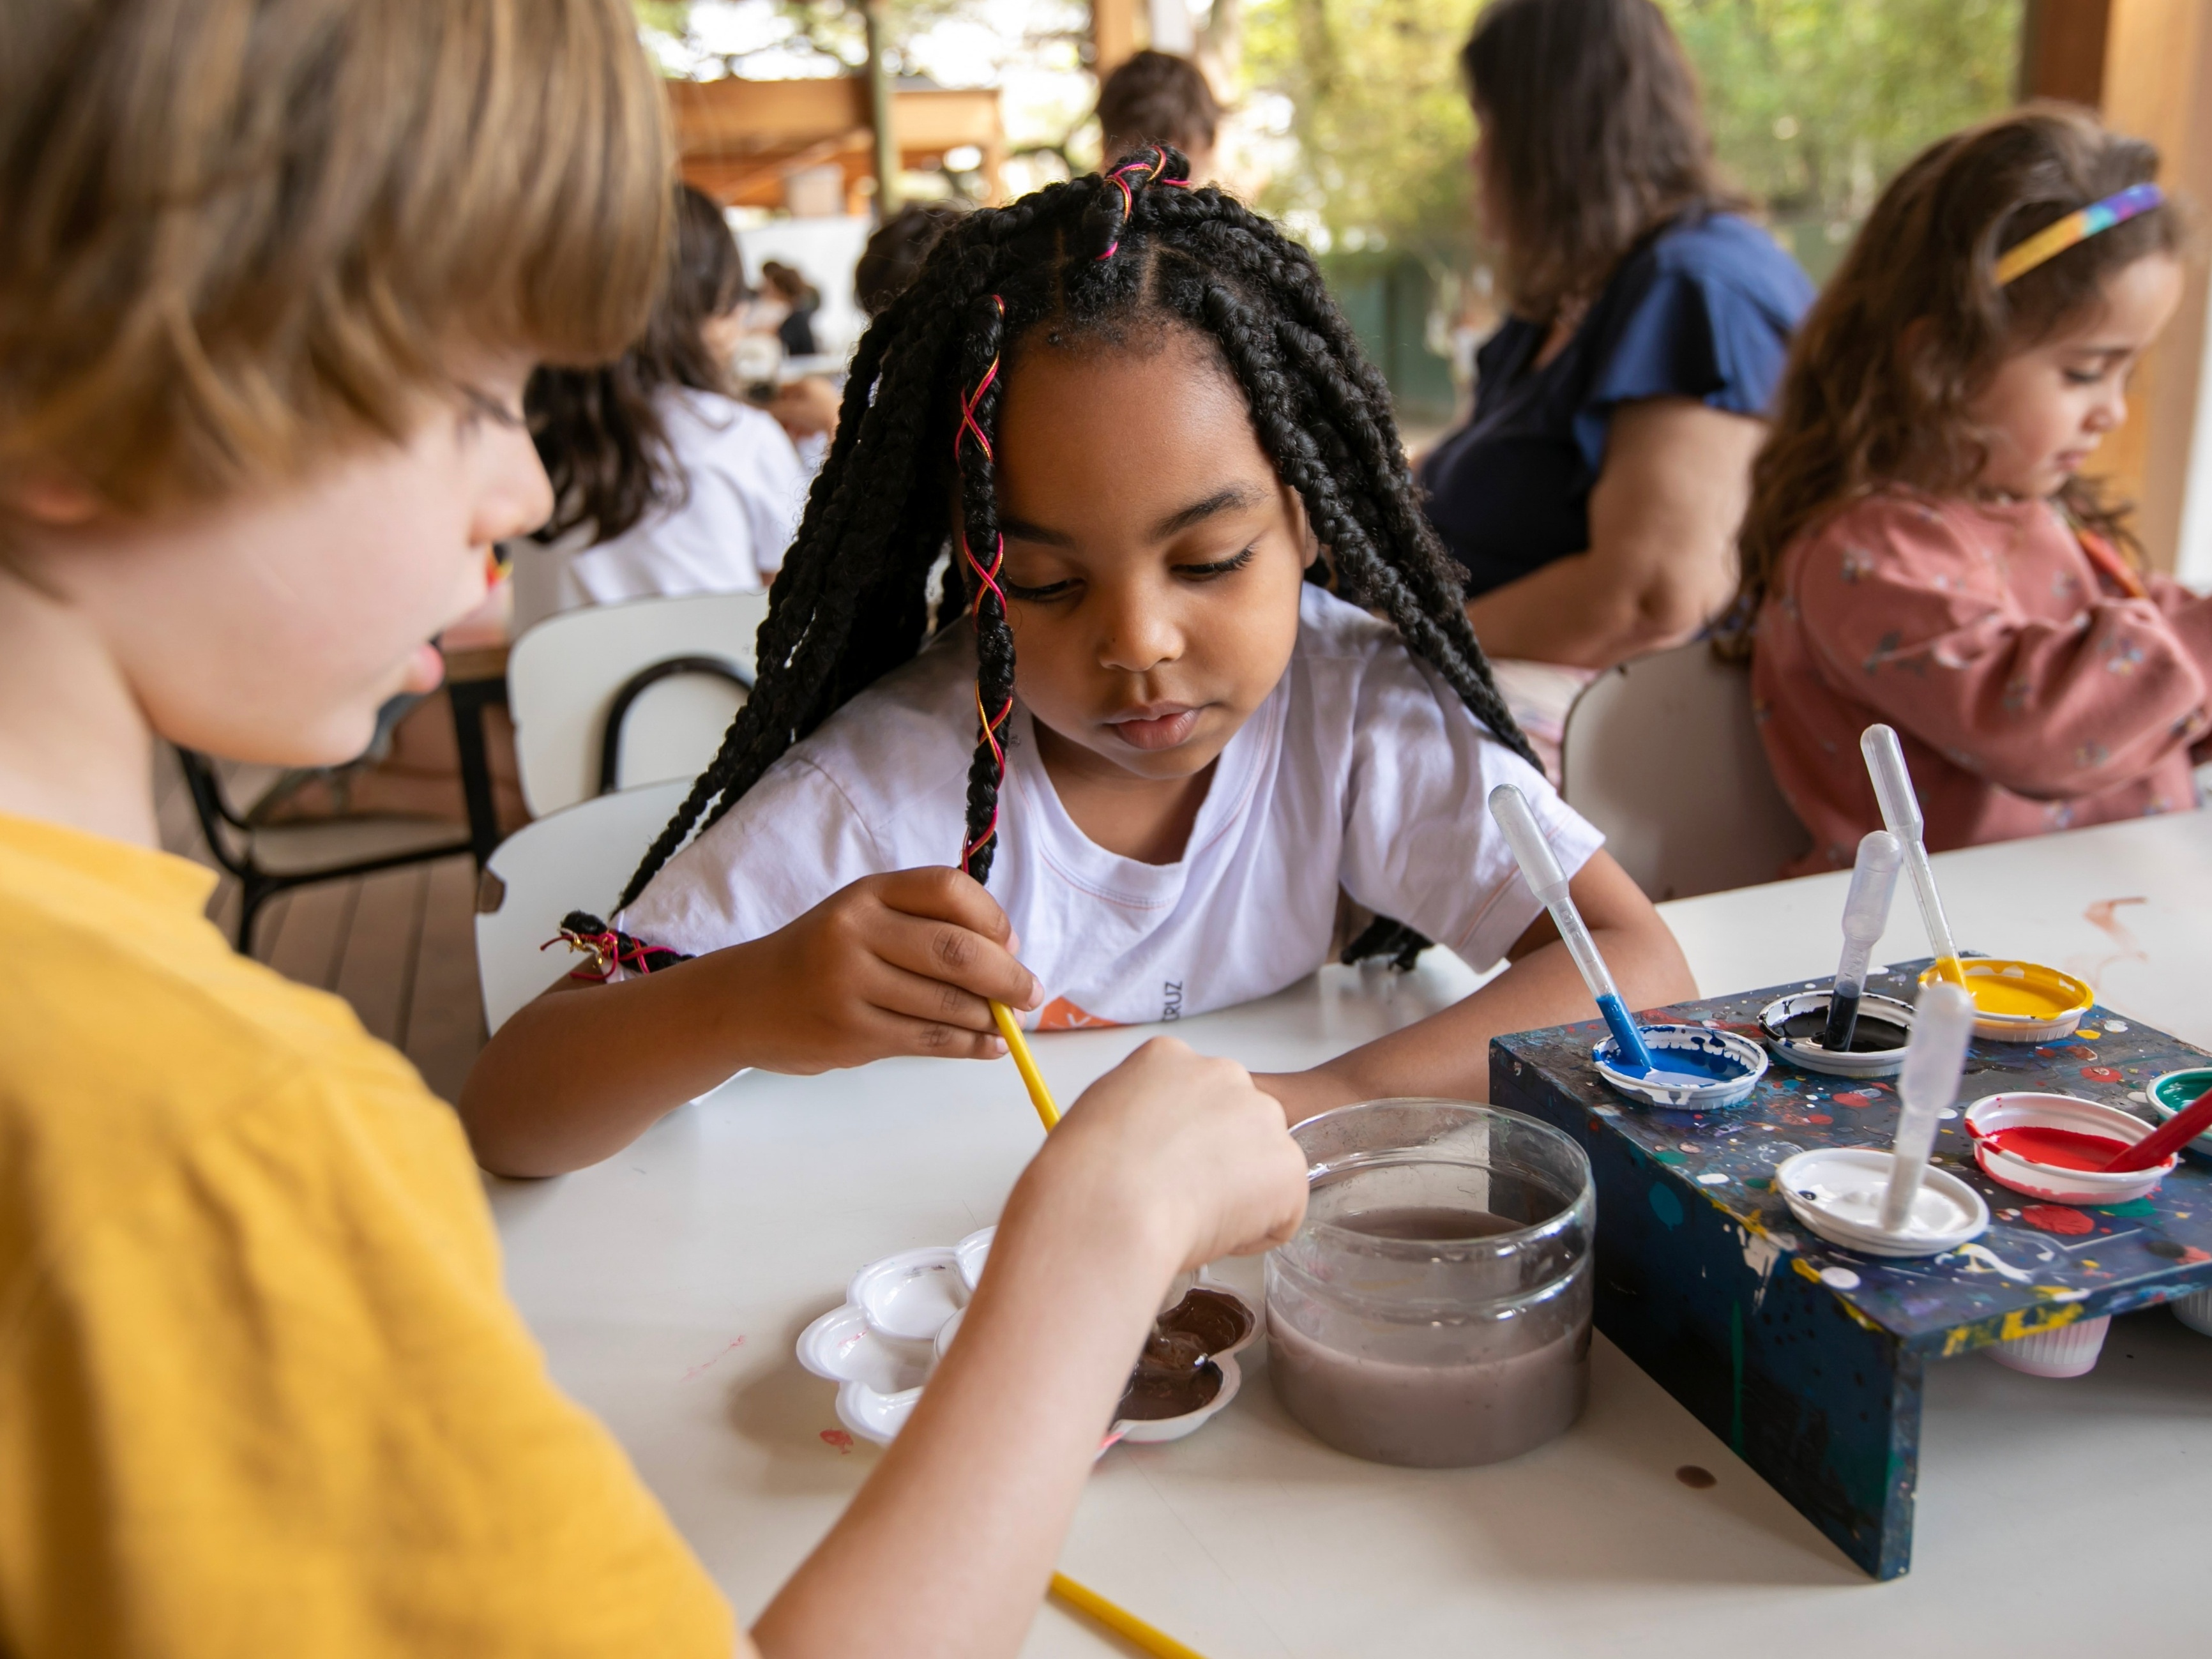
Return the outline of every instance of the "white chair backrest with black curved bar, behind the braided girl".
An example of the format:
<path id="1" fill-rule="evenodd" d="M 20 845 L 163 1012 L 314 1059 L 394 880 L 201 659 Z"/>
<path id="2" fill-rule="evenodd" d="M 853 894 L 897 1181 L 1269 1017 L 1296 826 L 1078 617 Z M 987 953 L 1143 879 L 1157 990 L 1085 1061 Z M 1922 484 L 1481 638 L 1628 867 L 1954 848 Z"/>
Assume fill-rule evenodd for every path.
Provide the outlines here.
<path id="1" fill-rule="evenodd" d="M 599 792 L 599 757 L 617 695 L 639 670 L 710 657 L 752 679 L 765 593 L 630 599 L 546 617 L 507 657 L 522 799 L 544 816 Z M 646 686 L 622 723 L 622 787 L 692 779 L 721 745 L 745 692 L 717 675 L 679 672 Z"/>

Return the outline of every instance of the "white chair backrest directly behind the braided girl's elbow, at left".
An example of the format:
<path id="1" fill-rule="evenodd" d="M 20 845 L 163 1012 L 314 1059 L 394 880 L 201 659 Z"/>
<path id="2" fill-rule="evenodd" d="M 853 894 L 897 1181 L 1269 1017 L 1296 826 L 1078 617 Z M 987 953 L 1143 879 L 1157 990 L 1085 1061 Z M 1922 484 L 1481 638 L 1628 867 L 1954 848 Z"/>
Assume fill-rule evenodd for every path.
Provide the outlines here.
<path id="1" fill-rule="evenodd" d="M 564 947 L 540 947 L 573 909 L 613 911 L 686 790 L 690 779 L 602 794 L 535 818 L 500 843 L 476 896 L 476 975 L 489 1031 L 577 964 Z"/>

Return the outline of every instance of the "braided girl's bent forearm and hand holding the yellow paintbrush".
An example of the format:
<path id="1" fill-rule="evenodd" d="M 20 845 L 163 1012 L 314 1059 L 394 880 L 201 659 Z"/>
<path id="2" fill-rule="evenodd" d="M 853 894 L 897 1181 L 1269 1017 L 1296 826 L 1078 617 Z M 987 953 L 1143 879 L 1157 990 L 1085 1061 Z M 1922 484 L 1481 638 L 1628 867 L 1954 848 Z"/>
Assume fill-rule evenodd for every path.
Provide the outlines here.
<path id="1" fill-rule="evenodd" d="M 1006 1053 L 987 998 L 1037 1006 L 1013 927 L 958 869 L 843 887 L 790 927 L 619 984 L 562 980 L 493 1033 L 460 1091 L 495 1175 L 597 1164 L 745 1066 Z"/>

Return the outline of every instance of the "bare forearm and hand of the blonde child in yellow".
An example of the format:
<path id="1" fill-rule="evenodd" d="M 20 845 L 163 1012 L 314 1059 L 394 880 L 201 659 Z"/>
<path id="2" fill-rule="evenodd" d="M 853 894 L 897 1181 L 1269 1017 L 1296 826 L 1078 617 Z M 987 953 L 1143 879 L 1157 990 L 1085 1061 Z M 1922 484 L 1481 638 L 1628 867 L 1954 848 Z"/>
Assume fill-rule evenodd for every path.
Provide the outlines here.
<path id="1" fill-rule="evenodd" d="M 1015 1183 L 907 1427 L 754 1626 L 761 1652 L 1013 1655 L 1168 1281 L 1303 1214 L 1305 1157 L 1243 1066 L 1155 1037 L 1091 1084 Z"/>

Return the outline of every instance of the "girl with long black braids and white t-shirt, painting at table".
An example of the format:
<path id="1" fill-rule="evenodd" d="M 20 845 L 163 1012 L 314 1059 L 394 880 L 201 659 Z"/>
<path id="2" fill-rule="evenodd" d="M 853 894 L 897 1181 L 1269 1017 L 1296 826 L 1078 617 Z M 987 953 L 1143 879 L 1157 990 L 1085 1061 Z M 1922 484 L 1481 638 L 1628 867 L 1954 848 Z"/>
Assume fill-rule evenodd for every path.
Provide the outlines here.
<path id="1" fill-rule="evenodd" d="M 608 1157 L 741 1066 L 1004 1053 L 989 1000 L 1075 1029 L 1272 995 L 1340 891 L 1398 918 L 1352 958 L 1420 929 L 1513 967 L 1267 1093 L 1480 1097 L 1491 1035 L 1593 1011 L 1467 805 L 1500 783 L 1632 1004 L 1694 993 L 1500 703 L 1312 257 L 1175 150 L 971 212 L 876 319 L 759 661 L 624 909 L 568 922 L 619 982 L 478 1060 L 489 1168 Z"/>

